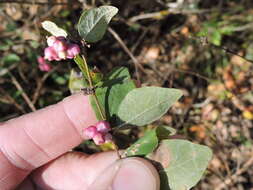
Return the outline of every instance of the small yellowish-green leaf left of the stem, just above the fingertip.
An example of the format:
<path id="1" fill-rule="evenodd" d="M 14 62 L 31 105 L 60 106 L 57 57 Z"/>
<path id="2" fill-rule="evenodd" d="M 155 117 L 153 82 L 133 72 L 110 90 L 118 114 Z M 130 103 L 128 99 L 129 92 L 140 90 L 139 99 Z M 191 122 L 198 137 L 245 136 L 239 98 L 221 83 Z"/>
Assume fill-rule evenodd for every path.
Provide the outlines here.
<path id="1" fill-rule="evenodd" d="M 86 83 L 85 79 L 82 77 L 81 73 L 78 73 L 74 69 L 72 69 L 70 72 L 68 86 L 69 86 L 70 92 L 73 94 L 76 92 L 80 92 L 80 90 L 88 86 L 88 84 Z"/>

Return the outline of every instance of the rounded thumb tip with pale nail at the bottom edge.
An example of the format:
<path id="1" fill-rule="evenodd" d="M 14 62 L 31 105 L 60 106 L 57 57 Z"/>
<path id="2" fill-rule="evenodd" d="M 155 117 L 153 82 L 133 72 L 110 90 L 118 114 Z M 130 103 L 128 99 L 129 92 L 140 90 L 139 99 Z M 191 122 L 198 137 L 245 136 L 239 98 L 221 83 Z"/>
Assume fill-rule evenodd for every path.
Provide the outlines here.
<path id="1" fill-rule="evenodd" d="M 153 166 L 139 158 L 117 161 L 102 172 L 89 190 L 158 190 L 159 177 Z"/>

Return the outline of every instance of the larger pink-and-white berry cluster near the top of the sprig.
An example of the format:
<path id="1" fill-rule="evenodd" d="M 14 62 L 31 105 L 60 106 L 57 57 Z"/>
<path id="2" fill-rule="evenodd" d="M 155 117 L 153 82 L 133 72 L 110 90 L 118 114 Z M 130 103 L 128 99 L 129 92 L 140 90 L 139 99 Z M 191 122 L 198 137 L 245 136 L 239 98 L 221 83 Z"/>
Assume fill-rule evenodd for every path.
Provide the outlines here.
<path id="1" fill-rule="evenodd" d="M 80 53 L 77 44 L 69 43 L 63 36 L 50 36 L 47 38 L 48 47 L 44 50 L 44 58 L 49 61 L 73 59 Z"/>

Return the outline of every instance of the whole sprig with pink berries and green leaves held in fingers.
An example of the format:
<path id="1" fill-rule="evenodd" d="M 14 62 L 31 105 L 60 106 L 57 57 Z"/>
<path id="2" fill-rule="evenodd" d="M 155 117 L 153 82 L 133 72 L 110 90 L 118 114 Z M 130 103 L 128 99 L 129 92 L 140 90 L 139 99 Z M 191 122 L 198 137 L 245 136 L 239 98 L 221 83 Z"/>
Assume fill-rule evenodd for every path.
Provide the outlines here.
<path id="1" fill-rule="evenodd" d="M 111 19 L 118 9 L 101 6 L 85 10 L 80 16 L 77 29 L 80 44 L 91 44 L 101 40 Z M 126 127 L 143 127 L 163 116 L 178 101 L 182 92 L 174 88 L 136 88 L 129 71 L 116 67 L 107 75 L 88 65 L 78 44 L 68 38 L 68 33 L 51 21 L 42 26 L 50 33 L 44 56 L 39 57 L 40 67 L 49 71 L 47 61 L 74 60 L 81 75 L 71 71 L 69 89 L 72 93 L 82 90 L 90 95 L 90 103 L 98 123 L 83 130 L 86 139 L 96 145 L 111 144 L 117 150 L 110 134 Z M 77 40 L 77 39 L 75 39 Z M 123 156 L 141 156 L 159 163 L 161 190 L 190 189 L 200 180 L 209 160 L 211 150 L 203 145 L 186 140 L 170 139 L 175 130 L 169 126 L 158 126 L 148 130 L 143 137 L 126 149 Z"/>

